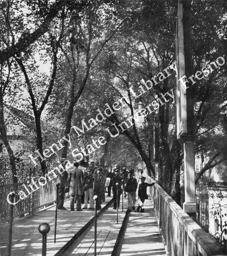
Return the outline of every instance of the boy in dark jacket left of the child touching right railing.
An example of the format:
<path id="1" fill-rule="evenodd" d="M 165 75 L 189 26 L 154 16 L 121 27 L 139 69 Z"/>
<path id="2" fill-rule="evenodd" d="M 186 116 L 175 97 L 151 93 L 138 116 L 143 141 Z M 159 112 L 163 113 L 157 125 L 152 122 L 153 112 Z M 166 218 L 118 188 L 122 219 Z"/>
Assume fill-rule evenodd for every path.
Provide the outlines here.
<path id="1" fill-rule="evenodd" d="M 137 179 L 134 177 L 134 172 L 131 170 L 128 173 L 128 180 L 125 185 L 125 191 L 128 193 L 128 211 L 135 210 L 135 202 L 137 201 Z"/>

